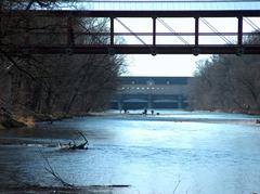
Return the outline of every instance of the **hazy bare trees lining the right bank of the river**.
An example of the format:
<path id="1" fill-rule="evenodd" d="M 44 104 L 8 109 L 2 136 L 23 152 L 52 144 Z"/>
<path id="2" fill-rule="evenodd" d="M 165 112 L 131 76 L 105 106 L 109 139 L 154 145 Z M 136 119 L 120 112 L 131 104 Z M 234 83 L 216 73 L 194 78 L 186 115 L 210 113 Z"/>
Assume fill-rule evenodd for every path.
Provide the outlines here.
<path id="1" fill-rule="evenodd" d="M 244 43 L 260 43 L 260 36 Z M 260 114 L 260 55 L 219 54 L 199 61 L 188 99 L 196 109 Z"/>

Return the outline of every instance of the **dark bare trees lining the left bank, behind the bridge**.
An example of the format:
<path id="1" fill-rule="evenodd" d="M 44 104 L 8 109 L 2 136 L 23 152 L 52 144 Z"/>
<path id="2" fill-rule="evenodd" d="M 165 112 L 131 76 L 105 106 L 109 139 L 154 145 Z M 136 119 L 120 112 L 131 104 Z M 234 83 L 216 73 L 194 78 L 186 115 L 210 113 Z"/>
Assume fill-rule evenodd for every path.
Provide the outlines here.
<path id="1" fill-rule="evenodd" d="M 58 0 L 3 0 L 1 12 L 58 9 Z M 72 4 L 73 5 L 73 4 Z M 105 18 L 72 18 L 76 43 L 107 43 Z M 14 114 L 80 114 L 104 109 L 123 70 L 123 55 L 13 53 L 17 44 L 67 42 L 67 18 L 5 16 L 0 18 L 0 106 Z M 81 33 L 81 34 L 80 34 Z M 29 35 L 29 38 L 28 38 Z"/>

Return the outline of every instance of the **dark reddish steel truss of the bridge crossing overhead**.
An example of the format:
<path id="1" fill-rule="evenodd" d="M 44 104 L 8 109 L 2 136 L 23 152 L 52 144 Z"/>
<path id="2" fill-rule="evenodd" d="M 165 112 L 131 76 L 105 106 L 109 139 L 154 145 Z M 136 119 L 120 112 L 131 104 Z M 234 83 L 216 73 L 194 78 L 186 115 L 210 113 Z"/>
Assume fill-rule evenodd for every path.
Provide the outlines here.
<path id="1" fill-rule="evenodd" d="M 65 20 L 65 28 L 61 28 L 57 31 L 41 30 L 26 30 L 23 31 L 20 36 L 22 41 L 18 43 L 12 43 L 12 47 L 6 46 L 1 42 L 1 48 L 6 47 L 11 52 L 25 52 L 31 54 L 259 54 L 260 53 L 260 43 L 250 42 L 245 43 L 244 37 L 246 36 L 259 36 L 259 27 L 256 28 L 253 33 L 245 33 L 243 30 L 245 20 L 247 17 L 259 17 L 259 10 L 244 10 L 244 11 L 11 11 L 11 12 L 1 12 L 1 20 L 9 20 L 10 17 L 23 16 L 28 18 L 28 29 L 34 29 L 34 24 L 29 23 L 31 17 L 44 17 L 44 18 L 60 18 Z M 74 18 L 92 18 L 92 17 L 102 17 L 108 18 L 108 30 L 107 31 L 90 31 L 86 29 L 84 31 L 76 31 L 72 25 L 72 20 Z M 126 24 L 121 22 L 120 18 L 151 18 L 152 31 L 142 33 L 142 31 L 132 31 Z M 194 21 L 194 31 L 192 33 L 176 33 L 168 26 L 169 33 L 159 33 L 157 31 L 157 23 L 164 24 L 164 18 L 192 18 Z M 212 33 L 202 33 L 199 31 L 200 24 L 207 21 L 205 17 L 229 17 L 236 20 L 236 31 L 218 31 L 212 27 Z M 120 23 L 128 33 L 115 33 L 115 22 Z M 167 25 L 167 24 L 165 24 Z M 210 24 L 208 24 L 210 27 Z M 178 26 L 177 26 L 178 27 Z M 40 36 L 51 36 L 58 35 L 65 37 L 64 40 L 60 43 L 48 43 L 44 42 L 34 42 L 30 41 L 31 37 L 37 34 Z M 17 36 L 17 34 L 16 34 Z M 104 36 L 107 37 L 108 41 L 102 43 L 83 43 L 75 41 L 75 37 L 86 36 L 86 37 L 95 37 Z M 128 44 L 128 43 L 118 43 L 115 41 L 116 37 L 120 36 L 132 36 L 135 37 L 140 43 Z M 152 42 L 146 43 L 142 41 L 143 36 L 152 37 Z M 170 43 L 170 44 L 160 44 L 157 42 L 158 36 L 165 36 L 168 39 L 172 37 L 178 37 L 181 40 L 184 40 L 183 37 L 192 37 L 193 42 L 187 43 L 183 42 L 182 44 Z M 235 37 L 235 42 L 220 43 L 220 44 L 203 44 L 200 43 L 200 38 L 205 36 L 210 37 L 222 37 L 233 36 Z"/>

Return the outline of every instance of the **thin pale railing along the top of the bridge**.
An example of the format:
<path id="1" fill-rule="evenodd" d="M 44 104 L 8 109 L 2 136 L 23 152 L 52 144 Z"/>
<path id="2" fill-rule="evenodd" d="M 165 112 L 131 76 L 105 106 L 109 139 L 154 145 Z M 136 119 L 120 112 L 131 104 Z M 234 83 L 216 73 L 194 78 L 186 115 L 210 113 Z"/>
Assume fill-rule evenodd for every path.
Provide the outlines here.
<path id="1" fill-rule="evenodd" d="M 255 10 L 258 0 L 79 0 L 76 5 L 89 11 L 206 11 Z"/>

